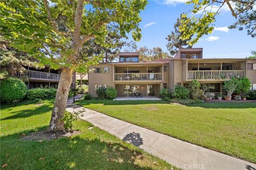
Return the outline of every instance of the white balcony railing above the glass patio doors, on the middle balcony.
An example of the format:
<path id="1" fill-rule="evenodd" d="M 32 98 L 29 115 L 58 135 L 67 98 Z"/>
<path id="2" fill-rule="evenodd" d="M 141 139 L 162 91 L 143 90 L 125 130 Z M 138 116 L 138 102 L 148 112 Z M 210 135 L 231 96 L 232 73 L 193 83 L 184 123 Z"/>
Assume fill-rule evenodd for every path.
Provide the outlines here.
<path id="1" fill-rule="evenodd" d="M 115 81 L 161 81 L 162 73 L 115 73 Z"/>

